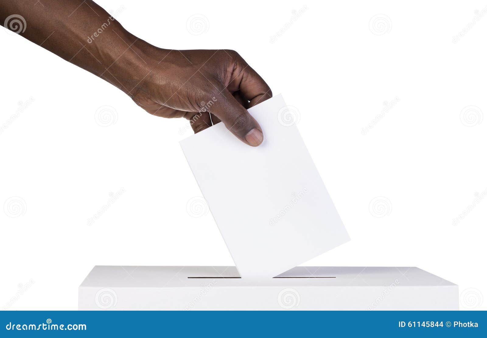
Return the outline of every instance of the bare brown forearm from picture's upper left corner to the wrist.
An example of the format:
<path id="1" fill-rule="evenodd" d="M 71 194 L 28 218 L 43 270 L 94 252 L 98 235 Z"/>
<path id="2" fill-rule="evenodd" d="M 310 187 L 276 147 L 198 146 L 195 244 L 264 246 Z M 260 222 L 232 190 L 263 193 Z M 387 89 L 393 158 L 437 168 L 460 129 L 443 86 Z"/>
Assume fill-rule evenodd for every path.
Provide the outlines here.
<path id="1" fill-rule="evenodd" d="M 91 0 L 0 0 L 0 6 L 6 28 L 129 95 L 148 73 L 150 55 L 161 51 L 127 32 Z"/>

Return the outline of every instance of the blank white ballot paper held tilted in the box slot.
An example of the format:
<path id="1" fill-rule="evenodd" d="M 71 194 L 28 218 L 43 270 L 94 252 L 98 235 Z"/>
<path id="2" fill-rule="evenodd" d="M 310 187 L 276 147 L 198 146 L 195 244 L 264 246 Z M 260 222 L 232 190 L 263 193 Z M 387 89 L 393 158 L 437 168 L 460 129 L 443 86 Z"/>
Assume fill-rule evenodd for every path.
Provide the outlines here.
<path id="1" fill-rule="evenodd" d="M 276 96 L 248 109 L 264 141 L 223 123 L 181 147 L 242 278 L 272 278 L 350 240 L 297 126 Z"/>

